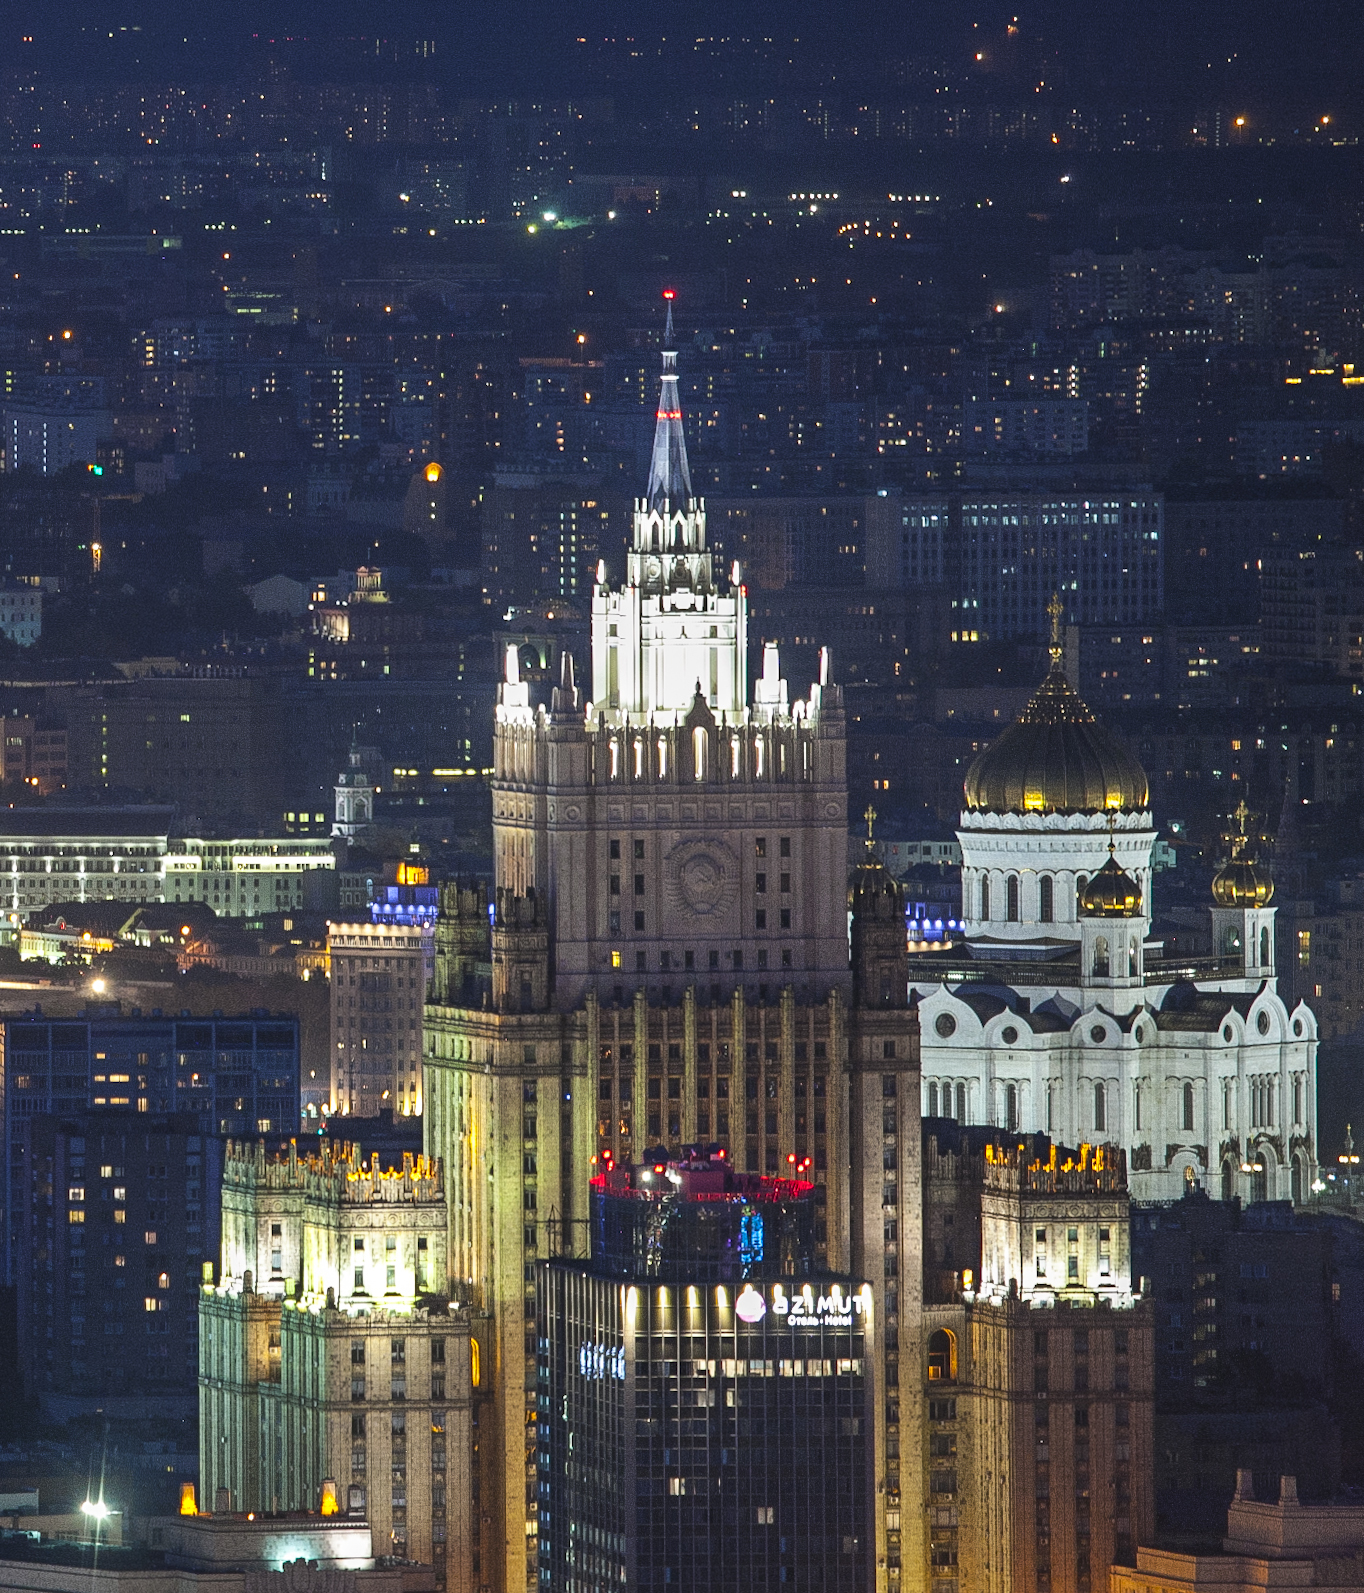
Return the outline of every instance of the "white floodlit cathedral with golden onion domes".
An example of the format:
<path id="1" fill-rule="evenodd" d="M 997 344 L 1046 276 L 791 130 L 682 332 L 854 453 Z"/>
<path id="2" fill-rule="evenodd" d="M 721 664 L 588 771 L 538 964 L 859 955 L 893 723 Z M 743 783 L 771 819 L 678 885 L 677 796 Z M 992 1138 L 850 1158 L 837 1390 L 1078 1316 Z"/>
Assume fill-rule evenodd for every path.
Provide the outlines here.
<path id="1" fill-rule="evenodd" d="M 1211 957 L 1150 938 L 1146 771 L 1052 667 L 970 766 L 966 953 L 911 959 L 923 1110 L 1127 1149 L 1136 1200 L 1305 1200 L 1316 1020 L 1275 978 L 1273 881 L 1246 812 L 1213 881 Z M 942 977 L 932 962 L 950 957 Z"/>

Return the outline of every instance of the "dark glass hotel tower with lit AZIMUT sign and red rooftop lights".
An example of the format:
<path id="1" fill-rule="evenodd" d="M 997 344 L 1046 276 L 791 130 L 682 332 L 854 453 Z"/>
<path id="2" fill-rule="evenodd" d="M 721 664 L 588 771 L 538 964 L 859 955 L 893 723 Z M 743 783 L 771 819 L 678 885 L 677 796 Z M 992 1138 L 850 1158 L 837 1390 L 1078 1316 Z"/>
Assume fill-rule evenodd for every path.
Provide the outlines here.
<path id="1" fill-rule="evenodd" d="M 542 1587 L 870 1585 L 873 1292 L 816 1271 L 813 1195 L 722 1152 L 593 1179 L 591 1257 L 539 1268 Z"/>

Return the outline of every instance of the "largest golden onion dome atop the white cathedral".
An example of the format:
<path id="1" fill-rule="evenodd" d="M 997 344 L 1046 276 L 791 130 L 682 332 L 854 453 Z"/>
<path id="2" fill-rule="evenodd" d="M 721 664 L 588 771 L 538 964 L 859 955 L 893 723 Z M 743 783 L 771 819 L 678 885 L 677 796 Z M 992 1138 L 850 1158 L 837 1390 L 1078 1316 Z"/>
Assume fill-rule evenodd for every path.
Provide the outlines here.
<path id="1" fill-rule="evenodd" d="M 966 774 L 985 812 L 1141 812 L 1146 769 L 1098 723 L 1053 658 L 1023 717 Z"/>

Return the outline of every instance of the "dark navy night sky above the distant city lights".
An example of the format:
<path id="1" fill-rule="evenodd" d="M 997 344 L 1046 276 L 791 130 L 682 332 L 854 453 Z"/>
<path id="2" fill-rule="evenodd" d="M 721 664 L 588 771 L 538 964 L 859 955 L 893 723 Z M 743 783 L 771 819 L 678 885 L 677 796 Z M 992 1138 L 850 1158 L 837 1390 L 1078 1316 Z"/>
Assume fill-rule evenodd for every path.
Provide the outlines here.
<path id="1" fill-rule="evenodd" d="M 129 49 L 92 51 L 105 29 L 140 24 L 135 56 L 145 68 L 177 73 L 186 65 L 209 75 L 231 72 L 257 33 L 374 33 L 435 37 L 453 75 L 491 73 L 513 83 L 564 81 L 562 45 L 574 35 L 639 33 L 672 37 L 746 33 L 800 37 L 816 59 L 884 59 L 940 54 L 969 59 L 972 22 L 999 35 L 1018 11 L 1031 59 L 1060 62 L 1071 83 L 1095 92 L 1135 97 L 1174 92 L 1254 96 L 1307 102 L 1345 96 L 1364 65 L 1359 0 L 1025 0 L 962 3 L 921 0 L 676 0 L 660 8 L 644 0 L 0 0 L 0 70 L 5 57 L 38 59 L 45 70 L 132 72 Z M 11 56 L 18 35 L 37 35 L 32 56 Z M 188 48 L 182 45 L 190 33 Z M 980 33 L 975 35 L 982 37 Z M 169 41 L 174 40 L 174 48 Z M 123 45 L 123 40 L 116 41 Z M 83 57 L 89 65 L 83 67 Z M 190 57 L 186 62 L 186 56 Z M 1230 59 L 1229 59 L 1230 57 Z M 854 67 L 856 70 L 856 67 Z"/>

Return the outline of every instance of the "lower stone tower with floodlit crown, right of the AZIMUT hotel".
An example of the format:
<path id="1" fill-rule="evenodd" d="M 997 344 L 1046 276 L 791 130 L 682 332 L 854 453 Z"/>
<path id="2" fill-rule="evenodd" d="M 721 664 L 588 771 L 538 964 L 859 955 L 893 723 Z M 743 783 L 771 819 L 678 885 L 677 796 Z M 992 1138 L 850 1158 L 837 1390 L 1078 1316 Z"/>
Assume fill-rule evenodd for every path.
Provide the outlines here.
<path id="1" fill-rule="evenodd" d="M 927 1544 L 905 1577 L 1098 1590 L 1155 1525 L 1154 1324 L 1122 1150 L 939 1120 L 923 1188 L 923 1351 L 900 1392 L 924 1418 Z"/>

